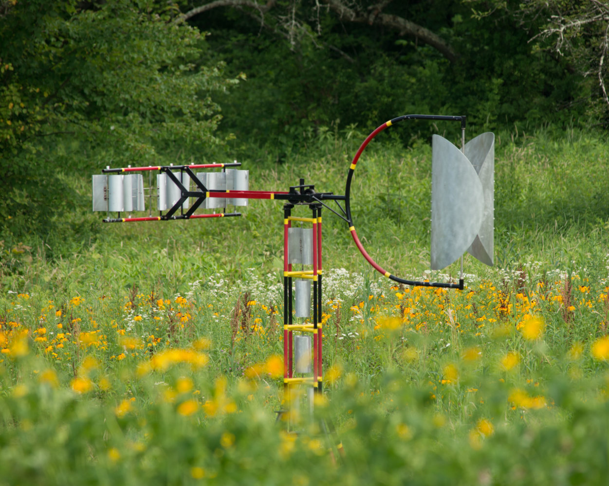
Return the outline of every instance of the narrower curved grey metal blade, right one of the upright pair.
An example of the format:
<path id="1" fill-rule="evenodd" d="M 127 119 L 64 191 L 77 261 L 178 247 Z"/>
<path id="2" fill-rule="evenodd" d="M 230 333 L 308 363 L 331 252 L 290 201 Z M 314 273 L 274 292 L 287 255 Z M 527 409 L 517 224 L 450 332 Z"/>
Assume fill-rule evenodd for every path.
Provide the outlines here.
<path id="1" fill-rule="evenodd" d="M 493 265 L 495 234 L 495 134 L 482 133 L 465 144 L 465 156 L 482 182 L 484 211 L 476 239 L 467 251 L 487 265 Z"/>

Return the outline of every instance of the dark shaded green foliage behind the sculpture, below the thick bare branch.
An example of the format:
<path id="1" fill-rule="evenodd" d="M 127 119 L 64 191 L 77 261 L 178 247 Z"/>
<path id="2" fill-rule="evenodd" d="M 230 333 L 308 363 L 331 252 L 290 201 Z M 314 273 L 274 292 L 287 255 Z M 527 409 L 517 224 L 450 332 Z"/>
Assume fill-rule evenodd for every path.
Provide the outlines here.
<path id="1" fill-rule="evenodd" d="M 261 160 L 285 161 L 303 147 L 302 131 L 353 123 L 371 130 L 407 113 L 466 114 L 476 130 L 524 120 L 565 126 L 573 119 L 596 120 L 585 115 L 588 81 L 564 59 L 529 42 L 541 21 L 527 23 L 527 30 L 502 9 L 473 13 L 478 5 L 471 2 L 443 2 L 431 10 L 426 2 L 387 6 L 387 12 L 451 43 L 459 57 L 450 63 L 433 47 L 396 31 L 339 21 L 312 2 L 292 6 L 294 30 L 273 10 L 264 27 L 230 8 L 191 19 L 211 32 L 212 59 L 226 61 L 232 75 L 247 75 L 247 82 L 220 99 L 226 115 L 221 130 L 237 134 L 239 156 L 254 146 L 262 147 Z M 402 141 L 407 145 L 433 130 L 412 125 Z"/>

